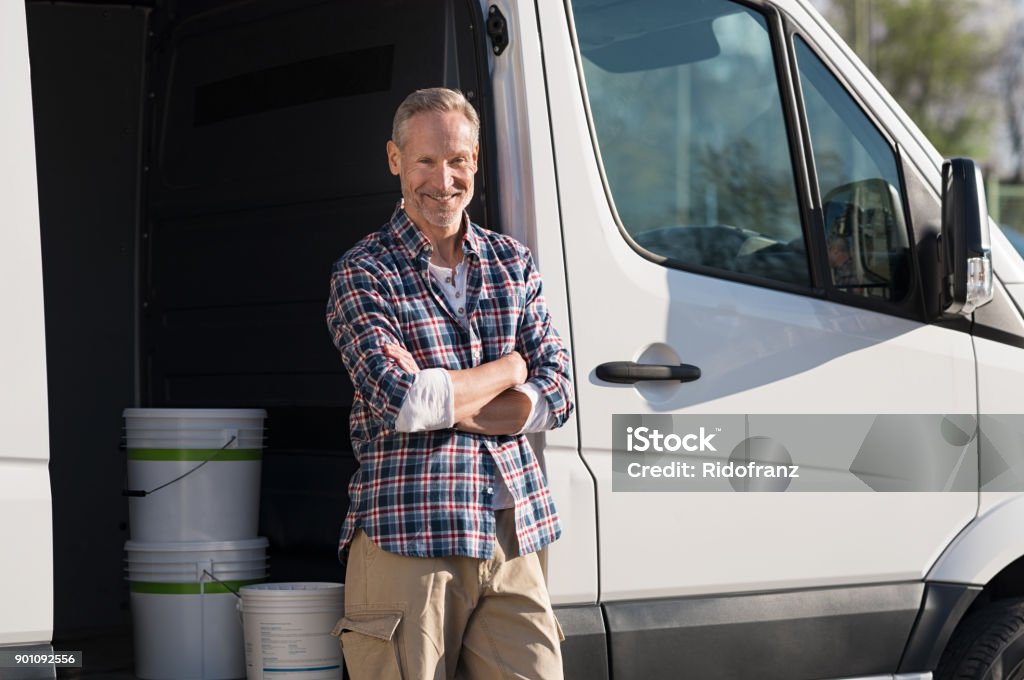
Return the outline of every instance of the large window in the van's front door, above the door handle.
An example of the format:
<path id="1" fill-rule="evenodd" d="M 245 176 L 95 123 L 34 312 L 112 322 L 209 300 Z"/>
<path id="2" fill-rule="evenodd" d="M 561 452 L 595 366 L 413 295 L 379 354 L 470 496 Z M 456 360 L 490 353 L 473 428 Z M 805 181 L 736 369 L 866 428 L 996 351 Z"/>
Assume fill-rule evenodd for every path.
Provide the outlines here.
<path id="1" fill-rule="evenodd" d="M 808 285 L 765 18 L 725 0 L 573 0 L 595 135 L 634 245 Z"/>

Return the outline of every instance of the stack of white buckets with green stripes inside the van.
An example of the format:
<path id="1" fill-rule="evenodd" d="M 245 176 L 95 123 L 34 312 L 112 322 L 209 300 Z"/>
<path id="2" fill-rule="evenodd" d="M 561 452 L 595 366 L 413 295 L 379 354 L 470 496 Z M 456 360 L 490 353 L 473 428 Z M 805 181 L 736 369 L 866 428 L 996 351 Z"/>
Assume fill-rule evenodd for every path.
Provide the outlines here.
<path id="1" fill-rule="evenodd" d="M 258 409 L 126 409 L 135 674 L 246 677 L 241 588 L 266 580 Z"/>

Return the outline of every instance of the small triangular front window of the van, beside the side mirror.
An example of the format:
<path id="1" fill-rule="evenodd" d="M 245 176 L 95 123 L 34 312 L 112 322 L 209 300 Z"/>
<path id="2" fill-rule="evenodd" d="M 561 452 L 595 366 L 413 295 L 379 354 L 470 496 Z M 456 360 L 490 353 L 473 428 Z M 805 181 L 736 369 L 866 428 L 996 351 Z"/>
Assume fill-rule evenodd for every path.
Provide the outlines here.
<path id="1" fill-rule="evenodd" d="M 800 38 L 796 52 L 831 285 L 848 294 L 898 301 L 910 277 L 896 155 Z"/>

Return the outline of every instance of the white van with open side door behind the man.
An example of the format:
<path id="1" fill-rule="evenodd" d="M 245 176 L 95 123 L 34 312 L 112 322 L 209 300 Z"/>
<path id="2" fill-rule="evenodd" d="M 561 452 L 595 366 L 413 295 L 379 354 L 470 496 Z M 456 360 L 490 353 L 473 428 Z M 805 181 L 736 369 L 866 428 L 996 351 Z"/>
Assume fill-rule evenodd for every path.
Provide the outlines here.
<path id="1" fill-rule="evenodd" d="M 572 349 L 566 676 L 1024 677 L 1024 262 L 805 0 L 0 5 L 0 645 L 123 635 L 129 406 L 266 409 L 271 576 L 343 578 L 327 277 L 439 84 Z"/>

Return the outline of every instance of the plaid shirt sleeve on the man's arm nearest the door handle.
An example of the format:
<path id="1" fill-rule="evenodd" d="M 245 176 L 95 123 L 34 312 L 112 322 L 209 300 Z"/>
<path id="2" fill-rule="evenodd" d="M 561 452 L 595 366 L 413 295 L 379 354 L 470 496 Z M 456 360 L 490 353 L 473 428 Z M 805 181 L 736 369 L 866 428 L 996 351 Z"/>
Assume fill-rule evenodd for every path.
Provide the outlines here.
<path id="1" fill-rule="evenodd" d="M 551 313 L 544 300 L 541 274 L 528 251 L 525 261 L 526 304 L 516 339 L 517 349 L 529 367 L 527 382 L 547 401 L 551 427 L 561 427 L 572 413 L 572 375 L 565 343 L 551 323 Z"/>

